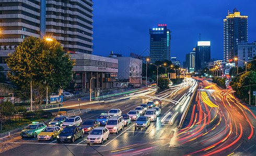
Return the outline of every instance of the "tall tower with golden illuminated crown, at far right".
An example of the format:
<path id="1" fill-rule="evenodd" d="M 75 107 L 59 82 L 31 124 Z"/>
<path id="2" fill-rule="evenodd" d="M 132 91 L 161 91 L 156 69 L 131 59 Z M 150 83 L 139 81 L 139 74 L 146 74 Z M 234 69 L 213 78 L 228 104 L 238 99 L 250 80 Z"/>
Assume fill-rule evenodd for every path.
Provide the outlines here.
<path id="1" fill-rule="evenodd" d="M 240 16 L 240 12 L 233 10 L 224 19 L 224 62 L 234 59 L 235 46 L 241 41 L 248 40 L 248 16 Z"/>

